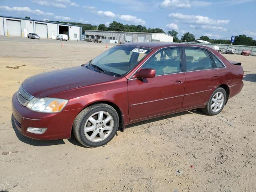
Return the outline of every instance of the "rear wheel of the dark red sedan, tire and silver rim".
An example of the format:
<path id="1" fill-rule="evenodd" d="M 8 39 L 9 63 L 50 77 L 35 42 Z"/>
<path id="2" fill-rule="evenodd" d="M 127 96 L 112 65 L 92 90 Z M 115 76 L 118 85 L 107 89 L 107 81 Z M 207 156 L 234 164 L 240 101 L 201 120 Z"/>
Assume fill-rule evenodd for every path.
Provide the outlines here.
<path id="1" fill-rule="evenodd" d="M 217 93 L 218 93 L 218 95 L 216 95 Z M 219 98 L 217 98 L 216 96 L 219 96 Z M 220 98 L 220 96 L 222 96 L 222 97 Z M 214 100 L 216 100 L 216 101 L 214 101 Z M 218 87 L 212 93 L 206 107 L 203 108 L 202 111 L 208 115 L 217 115 L 224 108 L 224 106 L 226 104 L 226 100 L 227 100 L 226 91 L 222 87 Z M 213 107 L 211 107 L 211 106 L 213 106 Z"/>

